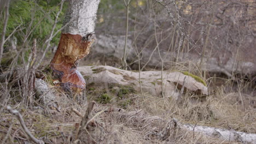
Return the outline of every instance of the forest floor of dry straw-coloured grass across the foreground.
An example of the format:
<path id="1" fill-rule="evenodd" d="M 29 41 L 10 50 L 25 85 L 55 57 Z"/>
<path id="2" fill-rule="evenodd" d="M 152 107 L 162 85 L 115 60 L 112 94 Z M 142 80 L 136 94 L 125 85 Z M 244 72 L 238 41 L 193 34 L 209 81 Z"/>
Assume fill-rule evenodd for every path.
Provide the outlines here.
<path id="1" fill-rule="evenodd" d="M 211 94 L 206 101 L 183 96 L 181 103 L 129 89 L 108 97 L 102 93 L 104 89 L 90 87 L 86 90 L 86 103 L 79 103 L 57 89 L 53 91 L 57 107 L 45 107 L 37 100 L 33 106 L 11 105 L 19 110 L 32 135 L 45 143 L 242 143 L 174 128 L 170 125 L 173 118 L 182 124 L 256 134 L 253 93 L 227 93 L 225 85 L 209 88 Z M 78 135 L 91 101 L 95 105 L 86 129 Z M 1 113 L 0 127 L 2 142 L 28 142 L 18 119 L 8 111 Z"/>

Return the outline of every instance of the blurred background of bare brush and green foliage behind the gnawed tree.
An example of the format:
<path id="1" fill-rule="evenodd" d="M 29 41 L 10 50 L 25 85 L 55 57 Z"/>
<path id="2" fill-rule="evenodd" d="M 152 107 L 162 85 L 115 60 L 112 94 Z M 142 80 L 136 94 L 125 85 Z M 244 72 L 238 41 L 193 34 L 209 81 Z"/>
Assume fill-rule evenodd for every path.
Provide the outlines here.
<path id="1" fill-rule="evenodd" d="M 28 49 L 32 39 L 37 39 L 38 52 L 43 52 L 46 47 L 43 44 L 50 37 L 60 10 L 60 2 L 11 1 L 4 53 L 12 49 Z M 229 77 L 234 73 L 255 74 L 255 4 L 252 0 L 132 0 L 129 17 L 126 17 L 124 1 L 102 0 L 95 28 L 98 41 L 85 64 L 98 61 L 118 67 L 124 45 L 127 45 L 126 61 L 130 69 L 138 69 L 140 56 L 140 67 L 146 68 L 161 69 L 163 61 L 163 67 L 168 69 L 176 62 L 189 61 L 199 63 L 199 69 Z M 57 33 L 50 41 L 45 59 L 53 56 L 59 43 L 61 31 L 58 30 L 66 8 L 67 2 L 57 18 L 54 34 Z M 4 19 L 3 10 L 1 17 Z M 125 44 L 127 19 L 128 40 Z M 3 22 L 0 22 L 1 28 Z M 7 59 L 2 59 L 3 65 L 10 63 L 9 55 L 6 56 Z"/>

